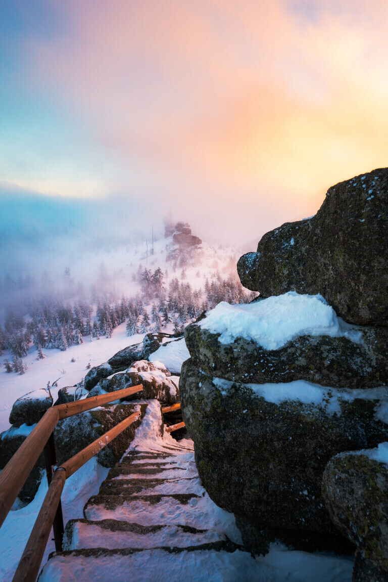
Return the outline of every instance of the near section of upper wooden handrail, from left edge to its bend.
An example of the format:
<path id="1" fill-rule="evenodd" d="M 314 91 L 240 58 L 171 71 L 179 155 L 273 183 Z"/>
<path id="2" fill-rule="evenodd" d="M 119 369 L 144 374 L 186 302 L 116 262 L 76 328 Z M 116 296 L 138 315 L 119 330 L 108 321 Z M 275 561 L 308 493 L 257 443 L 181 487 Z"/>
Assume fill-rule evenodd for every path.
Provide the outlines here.
<path id="1" fill-rule="evenodd" d="M 0 526 L 5 520 L 59 419 L 57 407 L 47 410 L 0 474 Z"/>

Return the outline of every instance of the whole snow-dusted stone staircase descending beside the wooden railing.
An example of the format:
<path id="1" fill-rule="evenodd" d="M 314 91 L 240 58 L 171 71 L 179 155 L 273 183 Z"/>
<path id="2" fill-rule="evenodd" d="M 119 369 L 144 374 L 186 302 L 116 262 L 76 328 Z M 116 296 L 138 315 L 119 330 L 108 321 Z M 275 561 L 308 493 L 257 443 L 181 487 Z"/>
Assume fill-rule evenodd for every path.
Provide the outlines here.
<path id="1" fill-rule="evenodd" d="M 257 579 L 257 561 L 229 540 L 235 526 L 201 485 L 193 442 L 168 439 L 127 451 L 109 471 L 40 582 Z"/>

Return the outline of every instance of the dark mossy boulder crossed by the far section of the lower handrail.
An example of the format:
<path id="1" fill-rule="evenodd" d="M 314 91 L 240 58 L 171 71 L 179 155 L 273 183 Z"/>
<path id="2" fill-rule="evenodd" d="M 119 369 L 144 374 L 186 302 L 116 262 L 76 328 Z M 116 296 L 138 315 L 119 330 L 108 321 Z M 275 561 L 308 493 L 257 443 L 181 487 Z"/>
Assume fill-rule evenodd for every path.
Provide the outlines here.
<path id="1" fill-rule="evenodd" d="M 99 407 L 98 410 L 81 412 L 60 420 L 54 430 L 56 460 L 58 464 L 69 460 L 91 442 L 111 430 L 125 418 L 140 410 L 141 417 L 108 443 L 98 455 L 98 462 L 104 467 L 113 467 L 133 440 L 136 428 L 143 420 L 147 404 L 114 404 Z"/>

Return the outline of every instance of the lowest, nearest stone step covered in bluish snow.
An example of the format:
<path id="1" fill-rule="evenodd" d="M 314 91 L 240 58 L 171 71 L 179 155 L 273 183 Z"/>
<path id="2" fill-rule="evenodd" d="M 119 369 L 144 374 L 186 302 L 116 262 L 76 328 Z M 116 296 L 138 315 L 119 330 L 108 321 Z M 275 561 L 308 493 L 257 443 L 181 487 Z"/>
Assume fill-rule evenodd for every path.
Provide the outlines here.
<path id="1" fill-rule="evenodd" d="M 218 541 L 186 548 L 95 548 L 54 552 L 38 581 L 251 582 L 262 579 L 262 574 L 262 564 L 250 553 L 230 541 Z"/>

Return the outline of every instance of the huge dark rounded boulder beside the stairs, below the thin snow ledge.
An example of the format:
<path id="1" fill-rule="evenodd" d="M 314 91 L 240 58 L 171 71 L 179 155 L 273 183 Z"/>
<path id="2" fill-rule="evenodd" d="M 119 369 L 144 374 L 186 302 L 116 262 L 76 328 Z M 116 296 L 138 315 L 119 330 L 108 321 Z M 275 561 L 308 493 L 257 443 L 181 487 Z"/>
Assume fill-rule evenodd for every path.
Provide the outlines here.
<path id="1" fill-rule="evenodd" d="M 388 437 L 388 425 L 375 418 L 376 400 L 343 400 L 340 414 L 329 414 L 326 401 L 275 404 L 244 384 L 223 393 L 191 359 L 182 367 L 180 396 L 209 496 L 262 529 L 337 534 L 321 494 L 326 463 Z"/>

